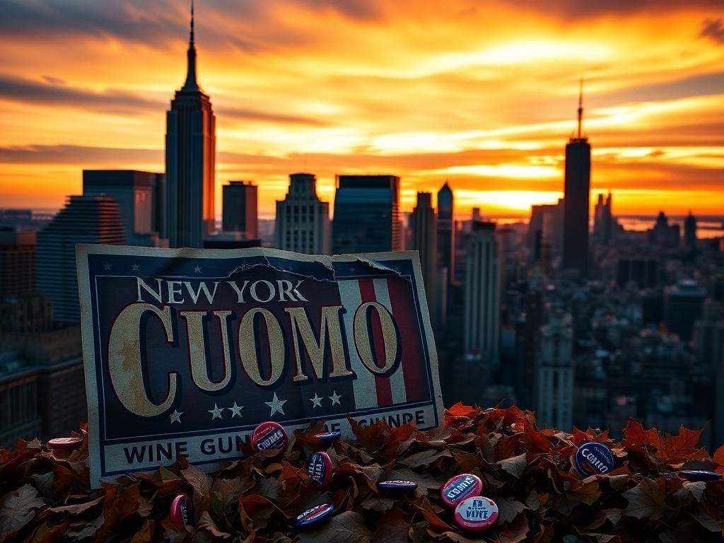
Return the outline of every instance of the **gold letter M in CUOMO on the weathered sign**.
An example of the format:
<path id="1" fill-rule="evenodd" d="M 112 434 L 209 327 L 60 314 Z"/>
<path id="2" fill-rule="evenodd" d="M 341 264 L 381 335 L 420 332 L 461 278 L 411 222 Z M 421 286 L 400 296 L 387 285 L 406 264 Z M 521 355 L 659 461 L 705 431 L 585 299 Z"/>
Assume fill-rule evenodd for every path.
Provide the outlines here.
<path id="1" fill-rule="evenodd" d="M 309 361 L 312 363 L 317 379 L 324 378 L 324 348 L 327 345 L 327 332 L 329 331 L 329 348 L 332 350 L 332 373 L 330 377 L 353 375 L 348 369 L 345 360 L 345 348 L 342 344 L 342 329 L 340 327 L 340 309 L 342 306 L 326 306 L 321 308 L 321 324 L 319 325 L 319 340 L 314 336 L 306 311 L 303 307 L 288 307 L 284 311 L 289 313 L 292 324 L 292 343 L 297 360 L 297 374 L 294 381 L 309 379 L 302 369 L 302 353 L 299 348 L 299 337 L 302 337 Z M 298 332 L 298 333 L 297 333 Z"/>

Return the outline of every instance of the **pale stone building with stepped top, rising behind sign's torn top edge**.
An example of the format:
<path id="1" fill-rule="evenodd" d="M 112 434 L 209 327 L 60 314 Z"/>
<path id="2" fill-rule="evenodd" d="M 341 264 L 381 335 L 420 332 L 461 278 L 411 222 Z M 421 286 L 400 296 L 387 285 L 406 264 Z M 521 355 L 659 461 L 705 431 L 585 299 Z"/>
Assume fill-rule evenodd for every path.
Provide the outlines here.
<path id="1" fill-rule="evenodd" d="M 283 251 L 328 255 L 330 230 L 329 203 L 316 195 L 316 177 L 291 174 L 285 199 L 277 200 L 274 246 Z"/>

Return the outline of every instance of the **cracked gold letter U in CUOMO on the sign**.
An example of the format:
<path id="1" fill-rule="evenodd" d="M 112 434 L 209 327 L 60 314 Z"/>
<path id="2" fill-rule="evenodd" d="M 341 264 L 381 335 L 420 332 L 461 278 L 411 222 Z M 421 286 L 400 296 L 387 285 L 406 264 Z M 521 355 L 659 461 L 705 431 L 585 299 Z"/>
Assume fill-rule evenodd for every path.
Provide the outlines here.
<path id="1" fill-rule="evenodd" d="M 231 354 L 229 353 L 229 331 L 227 330 L 227 316 L 231 311 L 214 311 L 219 319 L 222 329 L 222 350 L 224 351 L 224 378 L 213 382 L 209 379 L 206 368 L 206 342 L 203 337 L 203 316 L 206 311 L 181 311 L 180 315 L 186 319 L 188 328 L 188 353 L 191 357 L 191 378 L 194 384 L 206 392 L 216 392 L 226 387 L 231 380 Z"/>

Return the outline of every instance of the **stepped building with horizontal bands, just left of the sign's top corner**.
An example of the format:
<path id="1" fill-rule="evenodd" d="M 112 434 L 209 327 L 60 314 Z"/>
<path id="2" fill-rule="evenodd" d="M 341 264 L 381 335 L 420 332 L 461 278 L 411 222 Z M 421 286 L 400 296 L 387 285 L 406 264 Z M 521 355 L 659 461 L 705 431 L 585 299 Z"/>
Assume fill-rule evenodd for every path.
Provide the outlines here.
<path id="1" fill-rule="evenodd" d="M 70 196 L 55 218 L 38 232 L 36 285 L 53 303 L 59 322 L 79 322 L 77 243 L 125 243 L 118 202 L 111 196 Z"/>

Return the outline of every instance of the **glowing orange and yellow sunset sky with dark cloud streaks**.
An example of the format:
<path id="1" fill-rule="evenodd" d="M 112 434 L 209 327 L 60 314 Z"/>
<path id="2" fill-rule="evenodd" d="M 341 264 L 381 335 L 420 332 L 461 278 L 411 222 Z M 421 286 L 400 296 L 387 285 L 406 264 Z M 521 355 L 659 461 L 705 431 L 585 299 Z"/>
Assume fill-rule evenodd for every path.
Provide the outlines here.
<path id="1" fill-rule="evenodd" d="M 188 3 L 0 0 L 0 207 L 57 208 L 81 170 L 164 169 Z M 584 77 L 592 198 L 724 214 L 724 2 L 198 0 L 216 183 L 445 180 L 459 214 L 525 216 L 563 189 Z M 220 214 L 221 190 L 216 204 Z"/>

